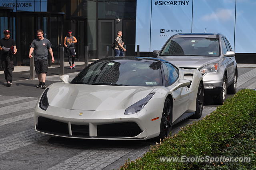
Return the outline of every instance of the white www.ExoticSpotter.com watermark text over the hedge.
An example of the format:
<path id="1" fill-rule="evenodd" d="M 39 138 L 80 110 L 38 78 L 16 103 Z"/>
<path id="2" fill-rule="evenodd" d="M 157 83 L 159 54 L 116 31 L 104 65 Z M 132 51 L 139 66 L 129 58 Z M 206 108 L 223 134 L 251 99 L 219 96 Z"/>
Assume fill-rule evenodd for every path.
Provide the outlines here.
<path id="1" fill-rule="evenodd" d="M 251 162 L 250 157 L 211 157 L 211 156 L 180 156 L 180 157 L 160 157 L 160 162 Z"/>

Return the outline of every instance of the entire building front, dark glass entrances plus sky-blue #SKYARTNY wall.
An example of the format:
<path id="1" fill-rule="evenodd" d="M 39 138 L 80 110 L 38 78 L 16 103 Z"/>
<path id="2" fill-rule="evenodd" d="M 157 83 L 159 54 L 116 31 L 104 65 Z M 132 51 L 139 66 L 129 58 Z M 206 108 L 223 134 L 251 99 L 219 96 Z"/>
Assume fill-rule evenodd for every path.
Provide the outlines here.
<path id="1" fill-rule="evenodd" d="M 67 30 L 78 40 L 78 61 L 84 61 L 85 46 L 89 59 L 114 56 L 110 46 L 122 30 L 126 56 L 136 55 L 136 45 L 140 56 L 151 56 L 176 33 L 218 32 L 228 37 L 238 63 L 256 63 L 255 7 L 254 0 L 0 0 L 0 37 L 11 30 L 18 48 L 15 66 L 29 65 L 38 29 L 52 42 L 56 64 Z"/>

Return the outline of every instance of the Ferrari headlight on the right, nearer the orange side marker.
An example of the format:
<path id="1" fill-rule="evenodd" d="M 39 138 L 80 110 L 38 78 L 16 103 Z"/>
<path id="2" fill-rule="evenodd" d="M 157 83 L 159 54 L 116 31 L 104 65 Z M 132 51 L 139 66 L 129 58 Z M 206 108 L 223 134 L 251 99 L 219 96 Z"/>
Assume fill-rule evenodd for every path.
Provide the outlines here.
<path id="1" fill-rule="evenodd" d="M 150 93 L 145 98 L 143 98 L 140 101 L 134 103 L 132 106 L 128 107 L 125 110 L 124 114 L 133 114 L 133 113 L 139 112 L 140 110 L 142 110 L 142 108 L 144 108 L 144 106 L 148 103 L 148 101 L 152 98 L 152 96 L 154 94 L 155 93 Z"/>

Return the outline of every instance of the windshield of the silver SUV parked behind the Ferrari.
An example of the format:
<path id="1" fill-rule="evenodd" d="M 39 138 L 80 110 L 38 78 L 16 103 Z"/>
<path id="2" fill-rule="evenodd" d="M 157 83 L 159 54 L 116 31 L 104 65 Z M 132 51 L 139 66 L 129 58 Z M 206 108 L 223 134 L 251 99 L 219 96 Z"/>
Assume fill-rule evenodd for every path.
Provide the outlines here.
<path id="1" fill-rule="evenodd" d="M 185 37 L 171 38 L 160 56 L 219 56 L 217 38 Z"/>

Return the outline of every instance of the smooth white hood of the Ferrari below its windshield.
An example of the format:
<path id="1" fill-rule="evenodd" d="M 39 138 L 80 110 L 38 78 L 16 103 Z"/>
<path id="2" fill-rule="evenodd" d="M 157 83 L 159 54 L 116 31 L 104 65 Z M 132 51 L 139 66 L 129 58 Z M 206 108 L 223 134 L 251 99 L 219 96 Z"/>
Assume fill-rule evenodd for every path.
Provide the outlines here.
<path id="1" fill-rule="evenodd" d="M 49 87 L 47 97 L 50 106 L 59 108 L 119 110 L 146 97 L 154 88 L 54 83 Z"/>

